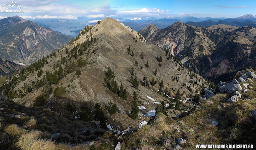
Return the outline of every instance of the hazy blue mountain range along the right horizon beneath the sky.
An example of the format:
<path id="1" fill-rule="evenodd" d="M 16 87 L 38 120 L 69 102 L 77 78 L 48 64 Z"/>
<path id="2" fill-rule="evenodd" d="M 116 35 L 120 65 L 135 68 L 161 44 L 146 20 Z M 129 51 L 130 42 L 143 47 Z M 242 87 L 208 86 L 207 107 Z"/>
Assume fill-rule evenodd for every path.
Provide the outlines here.
<path id="1" fill-rule="evenodd" d="M 241 17 L 237 18 L 196 18 L 193 16 L 184 16 L 184 17 L 173 17 L 173 18 L 164 18 L 159 20 L 148 20 L 146 22 L 122 22 L 126 26 L 130 26 L 135 31 L 139 31 L 144 29 L 146 26 L 149 26 L 150 24 L 156 25 L 158 28 L 163 29 L 174 22 L 181 21 L 186 24 L 190 24 L 192 26 L 202 26 L 202 27 L 209 27 L 212 25 L 218 25 L 218 24 L 226 24 L 230 26 L 236 26 L 236 27 L 243 27 L 243 26 L 252 26 L 256 27 L 256 16 L 252 14 L 246 14 Z"/>

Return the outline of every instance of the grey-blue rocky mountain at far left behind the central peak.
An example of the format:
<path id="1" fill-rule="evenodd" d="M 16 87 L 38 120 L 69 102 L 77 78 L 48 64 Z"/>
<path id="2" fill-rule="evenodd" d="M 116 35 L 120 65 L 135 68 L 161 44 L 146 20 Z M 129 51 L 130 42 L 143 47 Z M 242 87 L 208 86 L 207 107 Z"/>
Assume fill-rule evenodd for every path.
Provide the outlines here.
<path id="1" fill-rule="evenodd" d="M 19 16 L 0 20 L 0 31 L 0 57 L 26 65 L 61 48 L 72 39 Z M 31 54 L 36 57 L 31 59 Z"/>

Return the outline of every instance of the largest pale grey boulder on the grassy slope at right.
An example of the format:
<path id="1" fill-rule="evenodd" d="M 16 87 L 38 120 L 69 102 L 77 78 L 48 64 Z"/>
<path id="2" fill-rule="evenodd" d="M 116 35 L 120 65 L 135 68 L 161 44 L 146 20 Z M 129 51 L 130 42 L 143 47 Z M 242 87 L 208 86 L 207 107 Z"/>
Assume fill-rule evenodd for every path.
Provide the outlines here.
<path id="1" fill-rule="evenodd" d="M 220 81 L 218 87 L 221 93 L 227 92 L 228 94 L 232 94 L 235 91 L 242 90 L 241 85 L 236 79 L 234 79 L 231 83 L 226 84 L 223 84 L 223 82 Z"/>

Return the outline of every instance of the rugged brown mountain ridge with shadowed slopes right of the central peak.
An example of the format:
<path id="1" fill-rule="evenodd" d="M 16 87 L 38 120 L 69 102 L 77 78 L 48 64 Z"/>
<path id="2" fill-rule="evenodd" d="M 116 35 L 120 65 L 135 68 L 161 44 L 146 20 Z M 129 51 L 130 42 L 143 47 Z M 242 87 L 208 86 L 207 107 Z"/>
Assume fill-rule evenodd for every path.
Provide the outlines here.
<path id="1" fill-rule="evenodd" d="M 253 27 L 220 24 L 204 28 L 179 21 L 164 29 L 151 24 L 139 33 L 147 42 L 175 55 L 190 70 L 205 77 L 256 67 L 256 28 Z"/>

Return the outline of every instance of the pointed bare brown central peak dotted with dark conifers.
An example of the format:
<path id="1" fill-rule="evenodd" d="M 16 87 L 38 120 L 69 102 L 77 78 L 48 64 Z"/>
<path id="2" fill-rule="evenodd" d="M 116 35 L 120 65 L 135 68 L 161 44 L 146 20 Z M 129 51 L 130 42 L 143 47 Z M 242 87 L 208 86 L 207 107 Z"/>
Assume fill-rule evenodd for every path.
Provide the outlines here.
<path id="1" fill-rule="evenodd" d="M 93 108 L 100 104 L 108 116 L 101 126 L 107 123 L 110 128 L 120 130 L 138 128 L 138 121 L 130 118 L 137 99 L 136 105 L 141 109 L 138 109 L 140 116 L 136 116 L 140 122 L 148 121 L 149 116 L 155 115 L 158 104 L 174 103 L 172 97 L 176 93 L 182 93 L 182 111 L 191 109 L 189 103 L 192 102 L 186 98 L 209 85 L 158 46 L 146 43 L 138 32 L 112 18 L 86 26 L 64 48 L 12 75 L 10 80 L 15 77 L 18 78 L 15 86 L 8 82 L 4 86 L 11 84 L 12 88 L 3 90 L 3 94 L 16 103 L 53 107 L 54 111 L 74 120 L 80 117 L 85 104 L 88 111 L 95 111 Z M 110 110 L 105 111 L 112 104 L 116 105 L 114 116 Z M 74 110 L 67 110 L 66 105 Z M 177 110 L 168 111 L 168 115 L 176 117 L 180 113 L 178 106 Z M 79 119 L 88 121 L 82 116 Z"/>

